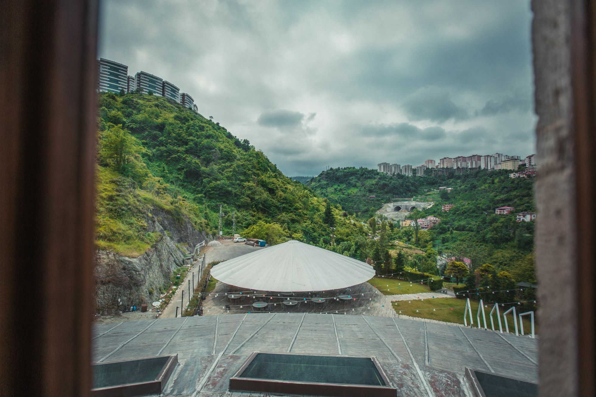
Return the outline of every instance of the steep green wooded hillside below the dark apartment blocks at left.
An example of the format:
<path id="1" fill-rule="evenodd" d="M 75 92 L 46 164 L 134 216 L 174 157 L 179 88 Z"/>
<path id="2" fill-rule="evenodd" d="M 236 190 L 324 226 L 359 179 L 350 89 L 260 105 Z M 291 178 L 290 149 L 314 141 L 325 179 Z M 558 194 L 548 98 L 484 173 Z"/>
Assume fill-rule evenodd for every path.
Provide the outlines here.
<path id="1" fill-rule="evenodd" d="M 159 238 L 145 220 L 155 207 L 215 234 L 219 204 L 224 234 L 232 232 L 235 211 L 237 232 L 246 237 L 328 244 L 329 207 L 346 237 L 365 235 L 362 225 L 284 176 L 249 141 L 166 98 L 100 94 L 98 125 L 100 247 L 140 255 Z"/>

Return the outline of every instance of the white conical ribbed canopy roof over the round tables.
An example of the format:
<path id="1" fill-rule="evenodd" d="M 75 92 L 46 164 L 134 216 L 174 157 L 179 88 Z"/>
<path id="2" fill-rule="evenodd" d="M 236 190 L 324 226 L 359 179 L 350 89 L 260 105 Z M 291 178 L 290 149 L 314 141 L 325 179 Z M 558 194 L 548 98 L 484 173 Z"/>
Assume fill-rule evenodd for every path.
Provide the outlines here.
<path id="1" fill-rule="evenodd" d="M 368 263 L 291 240 L 213 266 L 225 284 L 256 291 L 326 291 L 355 286 L 374 277 Z"/>

